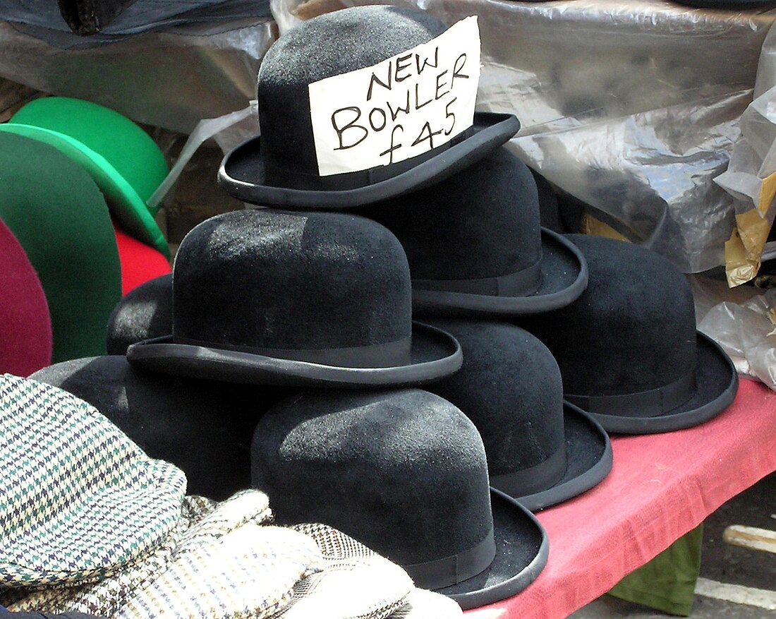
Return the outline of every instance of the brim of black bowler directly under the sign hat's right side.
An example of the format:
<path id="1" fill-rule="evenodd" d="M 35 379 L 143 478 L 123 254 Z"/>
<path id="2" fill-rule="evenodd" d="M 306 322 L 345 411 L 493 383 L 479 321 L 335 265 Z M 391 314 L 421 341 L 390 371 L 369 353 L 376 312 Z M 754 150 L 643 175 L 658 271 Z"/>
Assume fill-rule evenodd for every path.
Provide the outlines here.
<path id="1" fill-rule="evenodd" d="M 567 238 L 542 228 L 542 275 L 532 294 L 497 297 L 447 290 L 412 290 L 412 310 L 422 316 L 518 316 L 566 307 L 587 287 L 587 261 Z"/>

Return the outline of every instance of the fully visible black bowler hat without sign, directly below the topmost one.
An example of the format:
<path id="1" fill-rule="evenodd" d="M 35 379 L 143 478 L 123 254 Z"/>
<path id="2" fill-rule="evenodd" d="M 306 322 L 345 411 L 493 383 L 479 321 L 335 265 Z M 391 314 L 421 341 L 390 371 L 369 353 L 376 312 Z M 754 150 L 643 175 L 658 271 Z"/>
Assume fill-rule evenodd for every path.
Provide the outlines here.
<path id="1" fill-rule="evenodd" d="M 130 363 L 214 380 L 417 384 L 462 362 L 449 333 L 412 322 L 410 272 L 390 231 L 347 214 L 236 210 L 183 239 L 172 334 Z"/>

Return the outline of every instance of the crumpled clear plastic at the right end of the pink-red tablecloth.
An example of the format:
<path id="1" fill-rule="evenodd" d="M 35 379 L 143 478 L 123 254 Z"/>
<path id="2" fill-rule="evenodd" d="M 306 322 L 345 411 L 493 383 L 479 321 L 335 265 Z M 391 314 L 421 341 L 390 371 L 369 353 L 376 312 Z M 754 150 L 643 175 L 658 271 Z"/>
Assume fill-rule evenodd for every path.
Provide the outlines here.
<path id="1" fill-rule="evenodd" d="M 698 329 L 725 349 L 740 374 L 776 391 L 776 289 L 728 289 L 720 280 L 691 279 Z"/>

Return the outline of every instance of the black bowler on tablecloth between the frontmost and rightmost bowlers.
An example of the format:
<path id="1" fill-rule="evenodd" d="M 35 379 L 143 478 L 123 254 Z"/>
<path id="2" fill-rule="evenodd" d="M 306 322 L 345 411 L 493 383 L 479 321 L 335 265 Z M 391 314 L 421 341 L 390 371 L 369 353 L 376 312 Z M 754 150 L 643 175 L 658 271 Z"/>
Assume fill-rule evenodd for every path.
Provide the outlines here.
<path id="1" fill-rule="evenodd" d="M 490 485 L 536 510 L 577 496 L 611 470 L 611 444 L 586 412 L 563 403 L 552 353 L 504 322 L 436 320 L 458 339 L 463 366 L 428 386 L 472 420 Z"/>

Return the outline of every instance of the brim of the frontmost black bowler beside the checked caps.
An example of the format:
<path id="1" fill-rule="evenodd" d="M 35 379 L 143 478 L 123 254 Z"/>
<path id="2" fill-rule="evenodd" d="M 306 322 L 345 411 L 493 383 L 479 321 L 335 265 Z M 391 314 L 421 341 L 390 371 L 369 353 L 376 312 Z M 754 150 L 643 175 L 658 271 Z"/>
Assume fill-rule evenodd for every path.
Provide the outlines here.
<path id="1" fill-rule="evenodd" d="M 503 492 L 490 489 L 496 556 L 487 569 L 457 585 L 435 589 L 463 610 L 504 600 L 530 585 L 547 564 L 549 541 L 535 516 Z"/>

